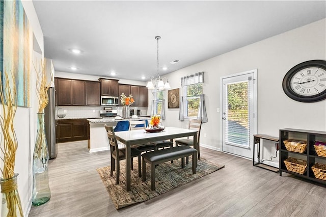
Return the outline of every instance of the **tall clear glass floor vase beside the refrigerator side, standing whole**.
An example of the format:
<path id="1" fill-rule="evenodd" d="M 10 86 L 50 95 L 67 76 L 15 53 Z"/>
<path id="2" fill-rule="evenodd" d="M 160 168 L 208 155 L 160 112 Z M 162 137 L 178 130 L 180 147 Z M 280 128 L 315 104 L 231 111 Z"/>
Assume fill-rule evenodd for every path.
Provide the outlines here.
<path id="1" fill-rule="evenodd" d="M 45 138 L 44 113 L 37 114 L 37 135 L 33 155 L 32 204 L 39 206 L 51 198 L 48 178 L 49 151 Z"/>

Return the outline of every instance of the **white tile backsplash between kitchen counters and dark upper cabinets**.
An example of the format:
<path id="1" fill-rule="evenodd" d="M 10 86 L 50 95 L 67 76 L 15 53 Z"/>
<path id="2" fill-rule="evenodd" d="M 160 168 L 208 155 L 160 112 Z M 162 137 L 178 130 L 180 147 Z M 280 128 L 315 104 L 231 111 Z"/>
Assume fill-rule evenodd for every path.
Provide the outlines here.
<path id="1" fill-rule="evenodd" d="M 117 110 L 117 114 L 122 116 L 122 106 L 110 107 L 113 110 Z M 104 106 L 56 106 L 56 119 L 99 118 L 100 110 L 102 109 L 104 109 Z M 147 114 L 147 107 L 130 107 L 130 109 L 140 109 L 142 115 Z M 66 116 L 64 118 L 58 118 L 57 115 Z"/>

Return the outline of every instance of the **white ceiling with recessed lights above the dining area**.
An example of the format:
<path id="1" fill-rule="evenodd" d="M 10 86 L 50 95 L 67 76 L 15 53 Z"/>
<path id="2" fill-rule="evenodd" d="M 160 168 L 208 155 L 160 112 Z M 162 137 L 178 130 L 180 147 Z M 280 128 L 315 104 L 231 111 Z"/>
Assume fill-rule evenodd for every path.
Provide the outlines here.
<path id="1" fill-rule="evenodd" d="M 33 3 L 56 71 L 131 80 L 157 75 L 157 35 L 163 75 L 326 17 L 326 1 Z"/>

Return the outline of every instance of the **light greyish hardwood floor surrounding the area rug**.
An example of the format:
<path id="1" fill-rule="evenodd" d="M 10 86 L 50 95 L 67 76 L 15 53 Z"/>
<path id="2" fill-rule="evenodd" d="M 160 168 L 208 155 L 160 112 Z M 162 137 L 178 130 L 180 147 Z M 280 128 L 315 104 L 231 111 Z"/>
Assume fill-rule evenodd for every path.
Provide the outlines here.
<path id="1" fill-rule="evenodd" d="M 29 216 L 326 216 L 323 185 L 219 151 L 202 148 L 201 157 L 225 168 L 116 210 L 95 170 L 110 165 L 110 152 L 89 153 L 86 141 L 58 144 L 49 165 L 51 199 Z"/>

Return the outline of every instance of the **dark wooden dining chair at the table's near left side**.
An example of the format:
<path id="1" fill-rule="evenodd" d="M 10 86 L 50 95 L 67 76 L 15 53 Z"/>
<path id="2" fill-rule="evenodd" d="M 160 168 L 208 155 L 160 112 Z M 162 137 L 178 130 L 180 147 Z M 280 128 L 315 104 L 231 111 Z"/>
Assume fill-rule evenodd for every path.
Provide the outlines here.
<path id="1" fill-rule="evenodd" d="M 116 184 L 119 184 L 119 178 L 120 178 L 120 160 L 126 159 L 126 149 L 125 148 L 118 148 L 118 143 L 116 139 L 116 134 L 114 133 L 113 126 L 107 126 L 104 125 L 106 132 L 107 132 L 107 138 L 108 142 L 110 143 L 110 152 L 111 152 L 111 171 L 110 175 L 113 175 L 113 171 L 116 170 L 116 165 L 117 165 L 117 180 Z M 141 170 L 141 151 L 139 151 L 136 148 L 130 147 L 130 157 L 131 157 L 131 166 L 132 166 L 132 161 L 134 157 L 138 157 L 138 176 L 142 176 L 142 170 Z M 131 170 L 133 168 L 131 167 Z"/>

